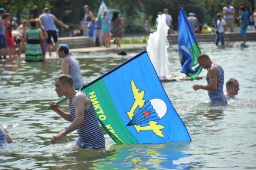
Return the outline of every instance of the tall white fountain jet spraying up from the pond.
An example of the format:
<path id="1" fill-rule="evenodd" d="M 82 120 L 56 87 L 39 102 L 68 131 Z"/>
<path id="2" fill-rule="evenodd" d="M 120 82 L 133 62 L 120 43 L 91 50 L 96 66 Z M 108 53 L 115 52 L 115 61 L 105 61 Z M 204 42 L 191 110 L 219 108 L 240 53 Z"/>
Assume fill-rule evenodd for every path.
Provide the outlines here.
<path id="1" fill-rule="evenodd" d="M 148 38 L 147 52 L 157 75 L 160 79 L 166 79 L 168 74 L 167 48 L 169 46 L 166 35 L 169 27 L 166 25 L 165 14 L 159 15 L 157 19 L 157 29 Z"/>

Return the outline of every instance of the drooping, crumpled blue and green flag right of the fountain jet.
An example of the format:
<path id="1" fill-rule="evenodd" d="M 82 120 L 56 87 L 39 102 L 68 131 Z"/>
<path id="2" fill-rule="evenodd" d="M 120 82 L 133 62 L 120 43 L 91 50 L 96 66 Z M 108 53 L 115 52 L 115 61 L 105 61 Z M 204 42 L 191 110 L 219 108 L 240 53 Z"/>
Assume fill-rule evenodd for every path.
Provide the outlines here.
<path id="1" fill-rule="evenodd" d="M 192 79 L 198 77 L 202 70 L 197 62 L 200 53 L 200 48 L 187 22 L 187 16 L 181 7 L 178 18 L 178 55 L 182 67 L 181 73 L 185 73 Z"/>

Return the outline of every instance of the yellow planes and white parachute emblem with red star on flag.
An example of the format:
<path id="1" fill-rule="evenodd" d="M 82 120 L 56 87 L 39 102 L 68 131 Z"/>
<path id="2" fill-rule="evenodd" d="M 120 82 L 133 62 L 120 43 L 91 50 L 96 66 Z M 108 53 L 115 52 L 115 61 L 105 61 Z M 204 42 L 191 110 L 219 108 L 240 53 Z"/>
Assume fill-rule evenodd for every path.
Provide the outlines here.
<path id="1" fill-rule="evenodd" d="M 135 102 L 127 115 L 130 118 L 127 126 L 134 126 L 137 132 L 141 130 L 152 130 L 157 136 L 164 137 L 162 130 L 164 126 L 158 124 L 156 120 L 160 120 L 167 112 L 166 103 L 161 99 L 150 99 L 145 102 L 144 93 L 141 91 L 139 93 L 139 88 L 136 88 L 134 81 L 131 81 L 132 92 Z M 135 111 L 139 107 L 139 111 Z M 147 126 L 142 126 L 142 124 L 148 123 Z"/>

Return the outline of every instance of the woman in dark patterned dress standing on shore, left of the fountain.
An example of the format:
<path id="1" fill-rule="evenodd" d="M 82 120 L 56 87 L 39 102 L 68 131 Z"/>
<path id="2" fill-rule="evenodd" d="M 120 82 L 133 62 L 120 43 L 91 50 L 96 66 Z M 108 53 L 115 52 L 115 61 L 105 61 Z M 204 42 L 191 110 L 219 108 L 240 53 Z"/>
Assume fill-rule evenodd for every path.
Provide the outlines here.
<path id="1" fill-rule="evenodd" d="M 121 47 L 120 40 L 121 40 L 121 37 L 123 37 L 124 35 L 124 28 L 123 28 L 124 20 L 118 16 L 117 11 L 114 11 L 113 13 L 111 24 L 113 28 L 112 34 L 113 34 L 113 37 L 115 37 L 115 44 L 117 44 L 117 49 L 118 49 L 118 47 Z"/>

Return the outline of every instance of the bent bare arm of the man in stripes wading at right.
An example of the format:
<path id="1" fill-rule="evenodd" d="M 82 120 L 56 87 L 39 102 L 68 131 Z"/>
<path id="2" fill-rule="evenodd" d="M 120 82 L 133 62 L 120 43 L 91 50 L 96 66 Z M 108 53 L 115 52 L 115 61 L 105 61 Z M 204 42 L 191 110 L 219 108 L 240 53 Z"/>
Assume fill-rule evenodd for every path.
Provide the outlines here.
<path id="1" fill-rule="evenodd" d="M 193 85 L 193 89 L 194 90 L 202 89 L 202 90 L 209 90 L 209 91 L 216 90 L 216 87 L 217 87 L 217 73 L 218 73 L 218 70 L 216 68 L 214 68 L 214 67 L 211 68 L 208 71 L 210 84 L 209 85 Z"/>

